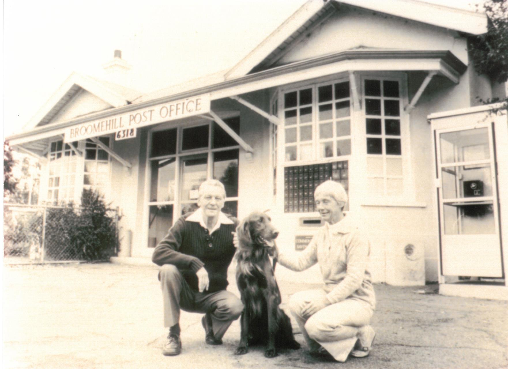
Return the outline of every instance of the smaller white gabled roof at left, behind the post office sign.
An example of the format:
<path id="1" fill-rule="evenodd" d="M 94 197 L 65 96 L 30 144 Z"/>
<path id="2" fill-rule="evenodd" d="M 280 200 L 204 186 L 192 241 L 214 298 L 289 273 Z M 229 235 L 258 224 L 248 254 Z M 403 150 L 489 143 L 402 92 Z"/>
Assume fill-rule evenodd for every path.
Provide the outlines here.
<path id="1" fill-rule="evenodd" d="M 28 121 L 23 130 L 30 130 L 48 124 L 82 89 L 87 90 L 90 94 L 97 96 L 114 108 L 128 105 L 141 95 L 130 88 L 73 72 L 63 81 L 35 116 Z"/>

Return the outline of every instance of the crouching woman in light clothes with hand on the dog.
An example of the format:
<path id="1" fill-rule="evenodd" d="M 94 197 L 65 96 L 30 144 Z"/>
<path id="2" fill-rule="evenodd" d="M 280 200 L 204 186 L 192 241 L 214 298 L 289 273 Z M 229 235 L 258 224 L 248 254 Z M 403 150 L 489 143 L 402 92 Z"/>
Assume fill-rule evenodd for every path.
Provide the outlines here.
<path id="1" fill-rule="evenodd" d="M 278 255 L 278 262 L 295 271 L 319 263 L 323 289 L 301 291 L 290 299 L 311 353 L 330 353 L 335 360 L 369 354 L 374 330 L 369 325 L 375 295 L 367 270 L 369 242 L 350 216 L 342 212 L 347 194 L 328 180 L 315 189 L 314 201 L 326 222 L 298 255 Z M 326 351 L 324 351 L 326 350 Z"/>

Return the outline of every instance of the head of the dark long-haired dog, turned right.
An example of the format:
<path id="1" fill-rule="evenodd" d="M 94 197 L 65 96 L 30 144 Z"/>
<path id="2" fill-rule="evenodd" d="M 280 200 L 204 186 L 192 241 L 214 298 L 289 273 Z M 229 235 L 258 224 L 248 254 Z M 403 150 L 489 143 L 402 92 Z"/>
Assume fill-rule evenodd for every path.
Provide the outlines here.
<path id="1" fill-rule="evenodd" d="M 272 225 L 267 214 L 259 211 L 251 212 L 236 229 L 241 243 L 249 243 L 260 247 L 273 247 L 273 240 L 279 231 Z"/>

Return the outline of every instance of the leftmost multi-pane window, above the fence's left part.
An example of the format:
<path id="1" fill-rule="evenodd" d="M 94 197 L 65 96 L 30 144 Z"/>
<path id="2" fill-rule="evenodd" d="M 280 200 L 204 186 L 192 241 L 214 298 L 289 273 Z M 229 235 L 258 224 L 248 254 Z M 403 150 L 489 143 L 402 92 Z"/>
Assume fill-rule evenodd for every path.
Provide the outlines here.
<path id="1" fill-rule="evenodd" d="M 74 147 L 77 142 L 73 142 Z M 74 200 L 77 156 L 62 140 L 49 145 L 48 193 L 46 200 L 53 204 Z"/>

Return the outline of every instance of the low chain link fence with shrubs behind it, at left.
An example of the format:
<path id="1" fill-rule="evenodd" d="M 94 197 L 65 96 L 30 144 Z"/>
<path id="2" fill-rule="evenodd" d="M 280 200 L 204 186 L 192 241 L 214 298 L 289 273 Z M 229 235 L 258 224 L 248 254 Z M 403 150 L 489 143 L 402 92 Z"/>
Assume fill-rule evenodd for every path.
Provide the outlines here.
<path id="1" fill-rule="evenodd" d="M 107 260 L 118 251 L 118 209 L 4 203 L 4 258 Z"/>

